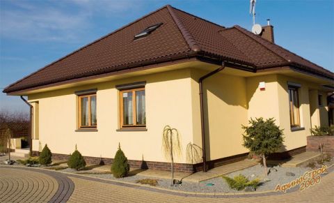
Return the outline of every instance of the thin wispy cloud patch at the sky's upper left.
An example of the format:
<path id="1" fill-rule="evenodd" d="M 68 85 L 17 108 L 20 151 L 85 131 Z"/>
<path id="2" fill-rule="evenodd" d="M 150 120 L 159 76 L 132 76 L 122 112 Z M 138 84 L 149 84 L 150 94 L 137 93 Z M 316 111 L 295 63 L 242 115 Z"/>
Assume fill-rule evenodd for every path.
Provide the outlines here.
<path id="1" fill-rule="evenodd" d="M 50 7 L 16 6 L 1 9 L 1 38 L 18 40 L 74 40 L 88 27 L 84 13 L 66 13 Z"/>

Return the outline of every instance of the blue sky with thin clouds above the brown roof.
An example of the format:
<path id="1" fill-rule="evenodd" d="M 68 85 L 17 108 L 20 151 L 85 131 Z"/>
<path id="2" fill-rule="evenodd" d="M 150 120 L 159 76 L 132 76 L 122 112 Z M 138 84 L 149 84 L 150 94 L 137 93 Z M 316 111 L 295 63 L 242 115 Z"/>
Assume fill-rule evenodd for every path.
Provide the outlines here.
<path id="1" fill-rule="evenodd" d="M 166 4 L 225 27 L 252 27 L 249 0 L 0 0 L 0 88 Z M 275 43 L 334 72 L 334 0 L 257 0 Z M 0 89 L 0 110 L 28 111 Z"/>

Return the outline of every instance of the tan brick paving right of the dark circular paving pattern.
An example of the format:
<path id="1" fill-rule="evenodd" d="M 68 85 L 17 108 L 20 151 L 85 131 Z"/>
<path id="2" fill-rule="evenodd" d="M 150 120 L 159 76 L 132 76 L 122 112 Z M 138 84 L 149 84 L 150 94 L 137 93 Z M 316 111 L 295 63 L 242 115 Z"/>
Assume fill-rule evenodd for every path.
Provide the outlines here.
<path id="1" fill-rule="evenodd" d="M 119 186 L 113 183 L 70 177 L 76 188 L 69 202 L 334 202 L 334 173 L 321 179 L 321 184 L 302 192 L 194 197 L 173 193 Z"/>

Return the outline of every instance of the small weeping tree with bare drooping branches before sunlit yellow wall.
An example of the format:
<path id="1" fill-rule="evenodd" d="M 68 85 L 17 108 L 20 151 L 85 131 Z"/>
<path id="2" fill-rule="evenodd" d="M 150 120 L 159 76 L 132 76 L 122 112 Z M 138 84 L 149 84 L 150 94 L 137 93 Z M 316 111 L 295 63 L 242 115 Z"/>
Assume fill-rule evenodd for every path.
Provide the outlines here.
<path id="1" fill-rule="evenodd" d="M 174 157 L 181 156 L 180 136 L 177 129 L 165 126 L 162 135 L 162 149 L 168 161 L 170 161 L 170 169 L 172 172 L 172 183 L 174 185 Z"/>

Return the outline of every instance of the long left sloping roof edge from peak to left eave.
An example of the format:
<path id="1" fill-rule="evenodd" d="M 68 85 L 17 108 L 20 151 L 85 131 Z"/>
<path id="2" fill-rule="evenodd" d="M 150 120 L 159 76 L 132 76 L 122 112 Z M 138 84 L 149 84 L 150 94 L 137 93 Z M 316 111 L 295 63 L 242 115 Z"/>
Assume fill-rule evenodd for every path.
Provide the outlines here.
<path id="1" fill-rule="evenodd" d="M 17 84 L 17 83 L 21 82 L 22 80 L 25 80 L 25 79 L 28 78 L 28 77 L 31 77 L 32 75 L 35 75 L 35 73 L 40 72 L 40 70 L 43 70 L 43 69 L 45 69 L 45 68 L 47 68 L 47 67 L 53 65 L 54 63 L 57 63 L 57 62 L 59 62 L 59 61 L 62 61 L 63 59 L 66 59 L 67 57 L 70 57 L 72 54 L 75 54 L 75 53 L 77 53 L 77 52 L 79 52 L 79 51 L 81 51 L 81 50 L 84 50 L 84 48 L 89 47 L 90 45 L 93 45 L 94 43 L 97 43 L 97 42 L 99 42 L 100 40 L 103 40 L 104 38 L 107 38 L 107 37 L 111 36 L 113 33 L 116 33 L 116 32 L 118 32 L 118 31 L 120 31 L 120 30 L 122 30 L 122 29 L 125 29 L 125 27 L 129 27 L 130 25 L 134 24 L 135 22 L 138 22 L 139 20 L 142 20 L 142 19 L 144 19 L 145 17 L 148 17 L 149 15 L 152 15 L 153 13 L 157 13 L 159 10 L 162 10 L 162 9 L 164 9 L 164 8 L 168 8 L 168 6 L 169 6 L 169 5 L 162 6 L 161 8 L 158 8 L 157 10 L 154 10 L 154 11 L 152 11 L 151 13 L 148 13 L 148 14 L 146 14 L 146 15 L 143 15 L 143 17 L 139 17 L 138 19 L 134 20 L 133 22 L 129 22 L 129 23 L 126 24 L 125 26 L 120 27 L 120 28 L 118 28 L 118 29 L 116 29 L 116 30 L 114 30 L 114 31 L 111 31 L 110 33 L 107 33 L 106 35 L 104 35 L 104 36 L 98 38 L 97 40 L 94 40 L 93 42 L 88 43 L 88 44 L 86 44 L 86 45 L 80 47 L 79 49 L 74 50 L 73 52 L 70 52 L 70 54 L 66 54 L 64 57 L 61 57 L 61 58 L 59 58 L 59 59 L 56 59 L 56 61 L 52 61 L 51 63 L 47 64 L 46 66 L 44 66 L 44 67 L 42 67 L 42 68 L 39 68 L 38 70 L 34 71 L 33 73 L 31 73 L 31 74 L 29 74 L 29 75 L 26 75 L 26 77 L 22 77 L 20 80 L 17 80 L 16 82 L 13 82 L 12 84 L 9 84 L 9 85 L 6 87 L 6 89 L 12 87 L 14 84 Z"/>

